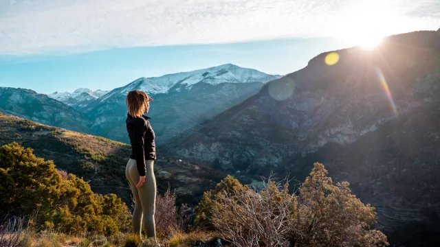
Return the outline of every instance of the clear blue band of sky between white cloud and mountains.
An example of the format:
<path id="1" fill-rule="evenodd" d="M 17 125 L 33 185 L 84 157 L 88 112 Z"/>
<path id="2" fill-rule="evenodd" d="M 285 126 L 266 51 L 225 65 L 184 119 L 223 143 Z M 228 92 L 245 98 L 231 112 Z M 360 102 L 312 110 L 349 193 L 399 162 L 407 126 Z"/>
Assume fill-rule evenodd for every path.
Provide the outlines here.
<path id="1" fill-rule="evenodd" d="M 111 90 L 140 77 L 232 63 L 265 73 L 292 73 L 319 52 L 339 49 L 331 38 L 268 40 L 224 45 L 109 49 L 68 56 L 0 56 L 0 86 L 38 93 L 79 87 Z"/>

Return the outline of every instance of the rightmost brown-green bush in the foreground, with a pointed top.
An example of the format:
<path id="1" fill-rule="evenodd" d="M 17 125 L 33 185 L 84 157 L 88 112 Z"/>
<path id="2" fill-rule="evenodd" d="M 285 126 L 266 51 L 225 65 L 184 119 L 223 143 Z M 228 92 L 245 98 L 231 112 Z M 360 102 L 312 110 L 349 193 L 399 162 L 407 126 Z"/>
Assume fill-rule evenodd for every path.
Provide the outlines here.
<path id="1" fill-rule="evenodd" d="M 375 208 L 351 194 L 348 182 L 327 176 L 324 165 L 315 163 L 299 189 L 297 241 L 301 246 L 384 246 L 386 236 L 371 230 Z"/>

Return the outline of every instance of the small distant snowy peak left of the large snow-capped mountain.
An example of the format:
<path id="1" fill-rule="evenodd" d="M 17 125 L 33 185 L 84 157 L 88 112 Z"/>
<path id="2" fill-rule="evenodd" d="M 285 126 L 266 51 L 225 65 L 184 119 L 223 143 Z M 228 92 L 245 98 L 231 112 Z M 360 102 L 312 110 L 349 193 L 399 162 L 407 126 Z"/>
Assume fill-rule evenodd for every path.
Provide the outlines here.
<path id="1" fill-rule="evenodd" d="M 60 93 L 56 91 L 54 93 L 50 93 L 47 96 L 51 97 L 52 99 L 61 101 L 68 106 L 72 106 L 73 108 L 80 109 L 90 104 L 94 99 L 98 99 L 98 97 L 101 97 L 106 93 L 109 93 L 109 91 L 91 91 L 90 89 L 80 88 L 76 89 L 74 93 Z"/>

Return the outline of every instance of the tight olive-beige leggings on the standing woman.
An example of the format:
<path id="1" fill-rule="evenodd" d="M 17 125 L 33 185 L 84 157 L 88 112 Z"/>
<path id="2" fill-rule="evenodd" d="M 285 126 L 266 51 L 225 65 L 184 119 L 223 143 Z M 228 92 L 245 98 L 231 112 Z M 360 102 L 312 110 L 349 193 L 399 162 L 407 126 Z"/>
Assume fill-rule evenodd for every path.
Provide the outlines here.
<path id="1" fill-rule="evenodd" d="M 137 172 L 136 161 L 133 158 L 130 158 L 129 163 L 126 164 L 125 176 L 130 182 L 131 191 L 133 192 L 133 198 L 135 200 L 135 210 L 133 211 L 133 217 L 131 217 L 133 231 L 141 236 L 142 222 L 147 238 L 154 237 L 156 239 L 154 222 L 156 178 L 153 173 L 153 163 L 154 161 L 145 161 L 145 183 L 139 189 L 136 187 L 137 183 L 139 183 L 139 172 Z"/>

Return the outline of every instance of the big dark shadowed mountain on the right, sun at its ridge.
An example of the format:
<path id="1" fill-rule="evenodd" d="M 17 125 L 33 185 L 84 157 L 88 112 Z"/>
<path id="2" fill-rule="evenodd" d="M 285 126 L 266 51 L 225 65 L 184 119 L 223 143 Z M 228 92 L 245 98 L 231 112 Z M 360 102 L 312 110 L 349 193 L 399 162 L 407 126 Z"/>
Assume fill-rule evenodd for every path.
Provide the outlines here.
<path id="1" fill-rule="evenodd" d="M 320 54 L 162 149 L 249 177 L 302 180 L 324 163 L 384 231 L 428 226 L 440 213 L 439 93 L 440 32 L 390 36 Z"/>

